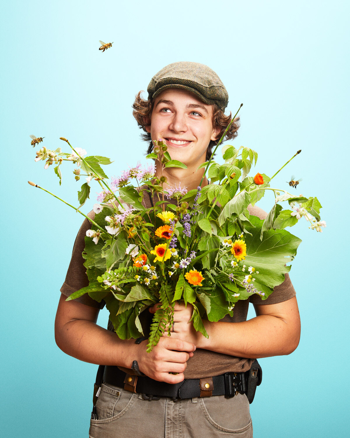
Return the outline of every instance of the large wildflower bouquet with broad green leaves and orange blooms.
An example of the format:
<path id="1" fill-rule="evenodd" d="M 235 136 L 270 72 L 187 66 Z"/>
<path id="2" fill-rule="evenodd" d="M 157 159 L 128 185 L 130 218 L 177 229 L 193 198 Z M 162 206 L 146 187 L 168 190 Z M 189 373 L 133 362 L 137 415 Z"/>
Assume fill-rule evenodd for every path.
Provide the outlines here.
<path id="1" fill-rule="evenodd" d="M 85 156 L 86 151 L 74 149 L 66 138 L 61 140 L 71 152 L 42 147 L 35 161 L 45 161 L 46 169 L 56 163 L 59 183 L 61 164 L 71 161 L 77 164 L 75 179 L 84 176 L 87 182 L 78 191 L 78 208 L 53 196 L 87 217 L 80 208 L 89 198 L 91 180 L 102 187 L 83 252 L 89 286 L 67 300 L 85 293 L 98 302 L 105 300 L 121 339 L 144 336 L 140 313 L 161 303 L 150 327 L 148 351 L 165 332 L 170 334 L 177 300 L 193 305 L 193 325 L 206 337 L 202 318 L 219 321 L 226 314 L 232 316 L 235 303 L 252 294 L 265 300 L 274 286 L 283 282 L 290 270 L 286 263 L 294 259 L 301 243 L 285 228 L 302 217 L 311 229 L 322 231 L 325 226 L 317 198 L 270 187 L 282 168 L 271 178 L 264 173 L 249 176 L 258 158 L 250 148 L 225 145 L 224 164 L 214 162 L 215 148 L 210 160 L 199 167 L 205 167 L 202 182 L 207 173 L 211 184 L 187 191 L 180 184 L 166 185 L 166 168 L 186 166 L 172 160 L 161 139 L 154 141 L 153 152 L 147 155 L 159 166 L 156 177 L 154 164 L 143 168 L 138 163 L 112 178 L 110 184 L 101 167 L 110 164 L 110 159 Z M 248 205 L 255 205 L 266 193 L 274 194 L 266 219 L 249 215 Z M 145 198 L 152 200 L 150 208 Z"/>

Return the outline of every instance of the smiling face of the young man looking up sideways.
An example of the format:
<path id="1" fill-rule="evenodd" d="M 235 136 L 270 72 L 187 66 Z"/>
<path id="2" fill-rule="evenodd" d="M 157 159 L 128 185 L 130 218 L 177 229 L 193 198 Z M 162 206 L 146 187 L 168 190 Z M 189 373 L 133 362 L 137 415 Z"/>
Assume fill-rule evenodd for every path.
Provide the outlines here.
<path id="1" fill-rule="evenodd" d="M 168 88 L 155 98 L 151 126 L 146 129 L 152 140 L 166 142 L 172 159 L 199 165 L 205 162 L 210 140 L 216 139 L 212 115 L 213 106 L 191 92 Z"/>

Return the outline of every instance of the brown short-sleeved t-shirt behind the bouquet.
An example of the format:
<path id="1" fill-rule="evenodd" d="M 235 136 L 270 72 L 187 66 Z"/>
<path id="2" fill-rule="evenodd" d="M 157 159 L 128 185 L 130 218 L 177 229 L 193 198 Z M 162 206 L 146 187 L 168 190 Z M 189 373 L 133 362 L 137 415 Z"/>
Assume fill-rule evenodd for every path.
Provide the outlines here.
<path id="1" fill-rule="evenodd" d="M 158 201 L 158 199 L 154 199 L 154 202 L 156 201 Z M 144 196 L 144 205 L 146 208 L 151 207 L 150 199 L 147 197 L 146 194 Z M 260 219 L 265 219 L 266 217 L 266 212 L 259 207 L 252 207 L 251 205 L 249 205 L 248 210 L 251 215 L 257 216 Z M 94 219 L 95 213 L 91 211 L 90 213 L 88 213 L 88 217 Z M 70 260 L 66 279 L 60 289 L 61 293 L 63 293 L 63 295 L 65 295 L 66 297 L 68 297 L 71 293 L 81 289 L 82 287 L 88 286 L 89 284 L 88 277 L 86 275 L 86 268 L 83 265 L 84 258 L 82 257 L 82 252 L 84 251 L 85 247 L 84 237 L 86 236 L 86 231 L 90 228 L 91 223 L 88 221 L 88 219 L 85 219 L 75 239 L 72 258 Z M 221 321 L 246 321 L 249 302 L 251 302 L 252 304 L 262 305 L 276 304 L 282 301 L 287 301 L 290 298 L 294 297 L 294 295 L 294 287 L 290 282 L 289 275 L 286 274 L 283 283 L 279 286 L 276 286 L 273 290 L 273 293 L 266 300 L 261 300 L 258 295 L 252 295 L 251 297 L 249 297 L 248 300 L 238 300 L 235 304 L 233 317 L 231 318 L 229 315 L 226 315 L 223 319 L 221 319 Z M 101 303 L 98 303 L 97 301 L 89 297 L 88 294 L 77 298 L 76 301 L 90 307 L 96 307 L 98 309 L 102 309 L 105 305 L 105 302 L 103 300 Z M 148 329 L 151 324 L 152 317 L 153 315 L 150 314 L 147 310 L 142 312 L 142 314 L 140 315 L 140 321 L 144 329 L 145 336 L 147 336 L 148 334 Z M 110 331 L 114 330 L 111 321 L 109 321 L 108 323 L 108 329 Z M 194 352 L 193 357 L 189 358 L 184 374 L 185 378 L 189 379 L 212 377 L 229 371 L 247 371 L 251 367 L 253 361 L 254 359 L 235 357 L 228 354 L 216 353 L 215 351 L 202 350 L 199 348 Z"/>

